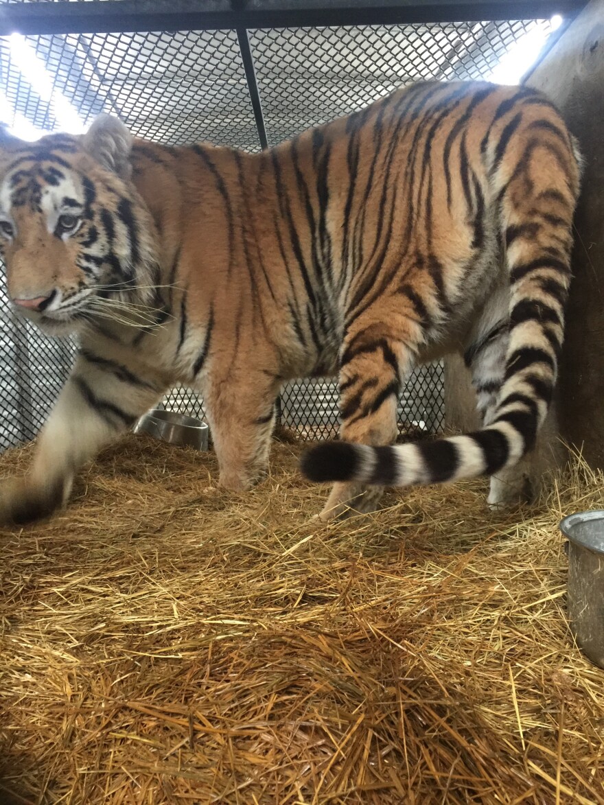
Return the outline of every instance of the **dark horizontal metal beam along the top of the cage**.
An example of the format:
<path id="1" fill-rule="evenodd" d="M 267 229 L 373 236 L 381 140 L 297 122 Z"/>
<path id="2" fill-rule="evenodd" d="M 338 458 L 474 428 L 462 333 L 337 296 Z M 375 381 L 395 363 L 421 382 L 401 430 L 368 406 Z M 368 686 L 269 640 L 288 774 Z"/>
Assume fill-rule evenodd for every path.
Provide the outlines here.
<path id="1" fill-rule="evenodd" d="M 106 0 L 0 5 L 0 35 L 544 19 L 586 0 Z"/>

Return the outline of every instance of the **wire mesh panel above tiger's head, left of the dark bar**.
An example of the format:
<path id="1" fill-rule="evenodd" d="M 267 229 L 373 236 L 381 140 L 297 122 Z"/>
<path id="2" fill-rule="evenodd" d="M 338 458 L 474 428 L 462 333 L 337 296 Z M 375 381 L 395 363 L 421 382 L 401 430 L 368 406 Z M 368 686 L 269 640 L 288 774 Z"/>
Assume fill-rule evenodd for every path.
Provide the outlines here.
<path id="1" fill-rule="evenodd" d="M 155 142 L 180 145 L 206 139 L 259 151 L 234 31 L 26 39 L 82 122 L 109 112 L 133 134 Z M 39 129 L 60 129 L 56 103 L 40 97 L 23 78 L 6 37 L 0 37 L 0 79 L 18 113 Z"/>

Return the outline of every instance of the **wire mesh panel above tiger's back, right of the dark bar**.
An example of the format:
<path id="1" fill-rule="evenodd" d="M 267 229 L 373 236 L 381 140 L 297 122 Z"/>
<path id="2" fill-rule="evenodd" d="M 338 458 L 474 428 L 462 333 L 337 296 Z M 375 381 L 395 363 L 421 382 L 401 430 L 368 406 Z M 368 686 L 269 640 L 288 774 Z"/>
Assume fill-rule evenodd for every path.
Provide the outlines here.
<path id="1" fill-rule="evenodd" d="M 250 31 L 269 145 L 350 114 L 412 81 L 488 76 L 548 20 Z"/>

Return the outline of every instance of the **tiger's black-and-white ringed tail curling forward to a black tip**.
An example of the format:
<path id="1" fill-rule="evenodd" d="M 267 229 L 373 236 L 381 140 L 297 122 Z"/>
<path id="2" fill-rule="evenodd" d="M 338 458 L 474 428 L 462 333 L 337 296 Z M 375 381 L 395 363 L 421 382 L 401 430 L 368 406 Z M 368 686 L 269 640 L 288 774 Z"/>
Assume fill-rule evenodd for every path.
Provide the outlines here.
<path id="1" fill-rule="evenodd" d="M 383 486 L 456 481 L 512 467 L 534 446 L 561 353 L 581 171 L 576 143 L 561 119 L 553 108 L 540 109 L 536 120 L 523 126 L 523 137 L 507 137 L 511 168 L 502 159 L 501 140 L 491 149 L 490 187 L 499 206 L 510 295 L 503 381 L 488 421 L 479 431 L 432 442 L 319 444 L 301 460 L 311 481 Z"/>

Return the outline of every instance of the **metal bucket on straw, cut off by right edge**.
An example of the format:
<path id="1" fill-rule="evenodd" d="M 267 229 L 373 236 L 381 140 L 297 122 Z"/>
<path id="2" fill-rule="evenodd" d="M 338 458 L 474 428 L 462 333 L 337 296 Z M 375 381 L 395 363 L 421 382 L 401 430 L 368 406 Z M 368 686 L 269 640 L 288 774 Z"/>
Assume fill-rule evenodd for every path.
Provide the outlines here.
<path id="1" fill-rule="evenodd" d="M 560 530 L 569 540 L 571 629 L 585 655 L 604 668 L 604 511 L 569 514 Z"/>

